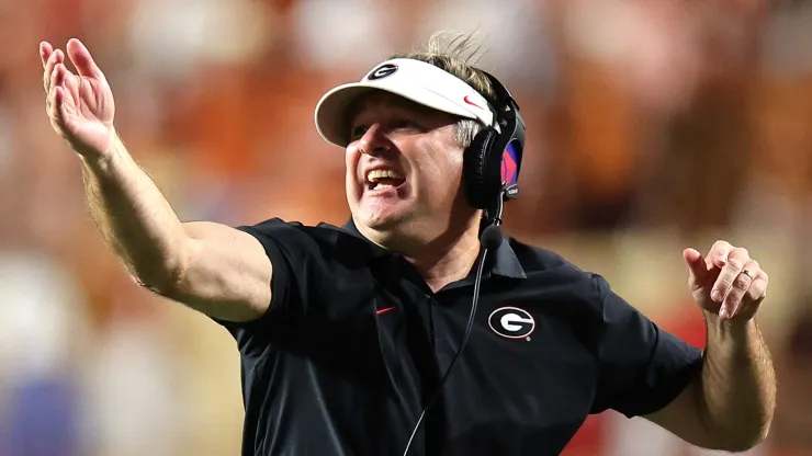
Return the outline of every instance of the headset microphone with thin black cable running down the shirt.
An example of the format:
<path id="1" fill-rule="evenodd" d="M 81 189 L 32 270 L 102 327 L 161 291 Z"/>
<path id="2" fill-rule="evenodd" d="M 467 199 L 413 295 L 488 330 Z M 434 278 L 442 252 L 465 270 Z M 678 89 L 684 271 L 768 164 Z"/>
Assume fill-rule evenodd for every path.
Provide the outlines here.
<path id="1" fill-rule="evenodd" d="M 462 351 L 465 349 L 465 345 L 469 342 L 469 337 L 471 335 L 471 329 L 474 327 L 474 315 L 476 315 L 476 305 L 480 301 L 480 287 L 482 286 L 482 272 L 485 269 L 485 259 L 487 258 L 488 251 L 496 250 L 499 244 L 501 244 L 503 240 L 503 233 L 501 233 L 501 210 L 505 204 L 505 200 L 514 200 L 519 195 L 519 187 L 516 184 L 508 184 L 504 183 L 501 185 L 501 190 L 499 191 L 499 198 L 496 206 L 496 214 L 493 217 L 488 217 L 490 220 L 490 225 L 485 227 L 484 230 L 482 230 L 482 235 L 480 235 L 480 243 L 482 244 L 482 255 L 480 256 L 480 264 L 476 267 L 476 278 L 474 281 L 474 298 L 471 303 L 471 314 L 469 315 L 469 322 L 467 327 L 465 328 L 465 335 L 462 338 L 462 343 L 460 344 L 460 349 L 456 351 L 456 354 L 454 354 L 454 357 L 451 360 L 451 364 L 449 364 L 448 369 L 446 369 L 446 374 L 443 374 L 442 378 L 440 379 L 440 384 L 437 386 L 437 390 L 431 396 L 431 400 L 429 403 L 422 409 L 422 412 L 420 413 L 420 418 L 417 420 L 417 424 L 415 424 L 415 429 L 411 431 L 411 436 L 409 436 L 409 442 L 406 444 L 406 449 L 403 452 L 403 455 L 406 456 L 409 452 L 409 447 L 411 446 L 411 442 L 415 440 L 415 435 L 417 434 L 417 430 L 420 428 L 420 423 L 422 422 L 424 417 L 426 417 L 426 412 L 429 411 L 431 406 L 435 404 L 435 401 L 437 400 L 437 397 L 440 396 L 440 392 L 442 391 L 442 387 L 446 384 L 446 379 L 448 378 L 449 374 L 451 373 L 451 369 L 454 367 L 454 364 L 456 364 L 456 360 L 459 360 L 460 355 L 462 354 Z"/>

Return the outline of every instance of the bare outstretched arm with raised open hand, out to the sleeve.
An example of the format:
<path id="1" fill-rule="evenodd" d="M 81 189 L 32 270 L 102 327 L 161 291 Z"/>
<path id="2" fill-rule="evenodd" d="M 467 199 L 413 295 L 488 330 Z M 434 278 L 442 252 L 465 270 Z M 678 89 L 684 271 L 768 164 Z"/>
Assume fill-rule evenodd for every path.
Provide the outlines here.
<path id="1" fill-rule="evenodd" d="M 84 45 L 67 45 L 76 73 L 50 44 L 40 54 L 52 126 L 78 153 L 93 219 L 135 281 L 222 320 L 262 315 L 272 266 L 259 241 L 223 225 L 182 224 L 119 138 L 112 91 Z"/>

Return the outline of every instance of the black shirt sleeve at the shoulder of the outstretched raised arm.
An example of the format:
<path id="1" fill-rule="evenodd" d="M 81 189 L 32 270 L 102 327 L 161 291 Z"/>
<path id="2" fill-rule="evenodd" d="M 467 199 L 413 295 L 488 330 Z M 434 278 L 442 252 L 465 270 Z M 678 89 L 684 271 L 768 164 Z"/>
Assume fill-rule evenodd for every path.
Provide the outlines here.
<path id="1" fill-rule="evenodd" d="M 297 223 L 286 223 L 272 218 L 253 226 L 240 226 L 237 229 L 253 236 L 266 251 L 273 274 L 271 277 L 271 301 L 268 310 L 258 319 L 248 322 L 234 322 L 214 319 L 237 340 L 241 351 L 250 351 L 251 345 L 263 350 L 272 327 L 284 327 L 290 323 L 292 295 L 295 283 L 302 277 L 303 265 L 307 258 L 308 237 Z"/>

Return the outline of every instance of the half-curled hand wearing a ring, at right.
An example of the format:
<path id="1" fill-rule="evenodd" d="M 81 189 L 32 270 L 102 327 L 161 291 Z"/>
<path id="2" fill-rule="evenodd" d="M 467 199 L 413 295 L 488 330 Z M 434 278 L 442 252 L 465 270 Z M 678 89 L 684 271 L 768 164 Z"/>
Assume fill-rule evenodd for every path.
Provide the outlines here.
<path id="1" fill-rule="evenodd" d="M 686 249 L 683 258 L 690 273 L 688 287 L 706 311 L 733 321 L 756 315 L 767 295 L 768 277 L 747 249 L 717 241 L 707 256 Z"/>

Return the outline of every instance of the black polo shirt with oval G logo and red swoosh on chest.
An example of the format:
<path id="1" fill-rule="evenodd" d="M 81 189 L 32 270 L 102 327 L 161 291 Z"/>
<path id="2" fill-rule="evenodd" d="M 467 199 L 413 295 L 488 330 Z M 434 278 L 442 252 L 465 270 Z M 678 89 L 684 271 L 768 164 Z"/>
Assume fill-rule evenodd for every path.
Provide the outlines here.
<path id="1" fill-rule="evenodd" d="M 401 455 L 460 347 L 474 273 L 432 293 L 349 223 L 240 229 L 273 264 L 268 312 L 223 322 L 239 346 L 244 455 Z M 413 455 L 557 455 L 589 413 L 654 412 L 702 354 L 599 275 L 505 238 L 474 327 Z"/>

